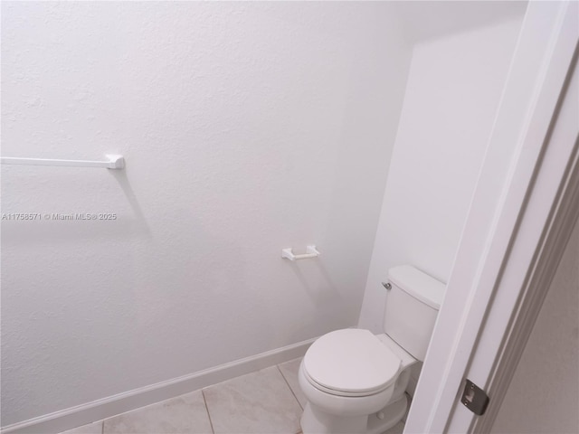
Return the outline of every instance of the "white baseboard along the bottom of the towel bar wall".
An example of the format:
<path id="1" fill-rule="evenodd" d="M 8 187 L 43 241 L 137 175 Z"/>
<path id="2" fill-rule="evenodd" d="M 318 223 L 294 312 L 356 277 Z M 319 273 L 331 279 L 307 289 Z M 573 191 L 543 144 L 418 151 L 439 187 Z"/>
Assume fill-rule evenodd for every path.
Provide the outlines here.
<path id="1" fill-rule="evenodd" d="M 252 373 L 278 363 L 288 362 L 306 354 L 308 346 L 314 341 L 315 339 L 308 339 L 298 344 L 284 346 L 232 363 L 224 363 L 214 368 L 177 377 L 166 382 L 157 382 L 133 391 L 55 411 L 37 418 L 7 425 L 2 427 L 0 432 L 2 434 L 55 434 L 67 429 L 87 425 L 145 405 L 194 392 L 245 373 Z"/>

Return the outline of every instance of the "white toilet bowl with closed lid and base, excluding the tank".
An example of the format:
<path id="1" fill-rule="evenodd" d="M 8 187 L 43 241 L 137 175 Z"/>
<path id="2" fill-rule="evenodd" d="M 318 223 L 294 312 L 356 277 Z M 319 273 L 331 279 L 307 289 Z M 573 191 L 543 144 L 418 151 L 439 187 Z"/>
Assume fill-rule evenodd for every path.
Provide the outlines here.
<path id="1" fill-rule="evenodd" d="M 378 434 L 393 427 L 408 406 L 404 390 L 413 363 L 385 334 L 344 329 L 320 337 L 299 366 L 308 399 L 304 434 Z"/>

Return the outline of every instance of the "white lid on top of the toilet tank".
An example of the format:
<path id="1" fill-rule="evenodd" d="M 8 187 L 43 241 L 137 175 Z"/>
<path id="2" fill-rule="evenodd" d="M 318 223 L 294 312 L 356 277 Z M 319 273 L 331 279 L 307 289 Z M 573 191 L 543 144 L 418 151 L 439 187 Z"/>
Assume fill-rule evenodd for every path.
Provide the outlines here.
<path id="1" fill-rule="evenodd" d="M 422 303 L 439 309 L 446 285 L 411 265 L 400 265 L 388 270 L 388 279 L 404 292 Z"/>

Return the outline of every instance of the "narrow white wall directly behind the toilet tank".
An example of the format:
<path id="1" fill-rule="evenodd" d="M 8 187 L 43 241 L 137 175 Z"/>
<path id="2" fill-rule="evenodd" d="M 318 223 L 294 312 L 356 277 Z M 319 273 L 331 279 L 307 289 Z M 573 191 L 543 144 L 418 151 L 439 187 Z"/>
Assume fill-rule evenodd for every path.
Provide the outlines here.
<path id="1" fill-rule="evenodd" d="M 359 326 L 382 331 L 394 265 L 449 277 L 521 19 L 414 46 Z"/>

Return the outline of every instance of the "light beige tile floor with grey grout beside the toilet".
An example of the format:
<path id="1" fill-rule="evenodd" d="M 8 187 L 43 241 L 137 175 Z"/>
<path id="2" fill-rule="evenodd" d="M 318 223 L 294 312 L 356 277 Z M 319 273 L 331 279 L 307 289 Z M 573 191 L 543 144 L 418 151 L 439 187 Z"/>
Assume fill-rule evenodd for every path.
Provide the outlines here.
<path id="1" fill-rule="evenodd" d="M 298 434 L 301 359 L 262 369 L 62 434 Z M 403 424 L 388 434 L 402 433 Z"/>

